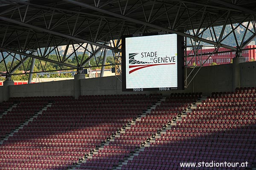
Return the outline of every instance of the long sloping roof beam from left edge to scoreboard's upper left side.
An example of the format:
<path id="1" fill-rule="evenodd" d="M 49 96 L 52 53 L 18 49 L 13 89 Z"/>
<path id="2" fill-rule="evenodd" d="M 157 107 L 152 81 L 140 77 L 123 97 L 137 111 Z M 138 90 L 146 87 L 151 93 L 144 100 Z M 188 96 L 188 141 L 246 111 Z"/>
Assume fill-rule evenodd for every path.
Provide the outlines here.
<path id="1" fill-rule="evenodd" d="M 41 28 L 41 27 L 38 27 L 38 26 L 33 26 L 31 24 L 23 23 L 23 22 L 20 22 L 20 21 L 17 21 L 17 20 L 13 20 L 11 18 L 0 16 L 0 20 L 4 20 L 4 21 L 10 22 L 10 23 L 18 24 L 20 26 L 25 26 L 25 27 L 28 27 L 28 28 L 32 28 L 32 29 L 35 29 L 35 30 L 38 30 L 38 31 L 47 32 L 49 34 L 57 35 L 57 36 L 60 36 L 60 37 L 66 37 L 66 38 L 69 38 L 71 40 L 75 40 L 75 41 L 78 41 L 78 42 L 84 42 L 84 43 L 88 43 L 88 44 L 91 44 L 91 45 L 96 45 L 96 46 L 99 46 L 99 47 L 102 47 L 102 48 L 107 48 L 107 49 L 110 49 L 110 50 L 113 50 L 113 51 L 120 51 L 121 52 L 121 50 L 118 49 L 118 48 L 113 48 L 113 47 L 110 47 L 110 46 L 107 46 L 107 45 L 103 45 L 103 44 L 100 44 L 100 43 L 96 43 L 96 42 L 84 40 L 84 39 L 81 39 L 81 38 L 73 37 L 73 36 L 70 36 L 70 35 L 67 35 L 67 34 L 63 34 L 63 33 L 60 33 L 60 32 L 56 32 L 56 31 L 52 31 L 52 30 L 49 30 L 49 29 Z"/>

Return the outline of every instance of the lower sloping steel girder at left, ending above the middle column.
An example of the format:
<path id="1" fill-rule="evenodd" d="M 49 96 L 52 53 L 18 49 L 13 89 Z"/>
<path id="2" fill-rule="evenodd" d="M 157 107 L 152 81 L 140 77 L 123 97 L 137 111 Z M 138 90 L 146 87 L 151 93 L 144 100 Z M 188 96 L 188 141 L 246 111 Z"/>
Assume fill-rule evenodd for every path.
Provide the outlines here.
<path id="1" fill-rule="evenodd" d="M 23 55 L 23 56 L 32 57 L 32 58 L 35 58 L 35 59 L 40 59 L 40 60 L 43 60 L 43 61 L 52 62 L 52 63 L 58 64 L 58 65 L 64 65 L 64 66 L 75 68 L 75 69 L 78 68 L 75 65 L 71 65 L 71 64 L 67 64 L 67 63 L 63 63 L 63 62 L 58 62 L 58 61 L 55 61 L 55 60 L 52 60 L 52 59 L 38 57 L 38 56 L 35 56 L 35 55 L 32 55 L 32 54 L 23 53 L 23 52 L 15 51 L 15 50 L 8 49 L 8 48 L 0 47 L 0 50 L 2 50 L 2 51 L 9 51 L 11 53 L 20 54 L 20 55 Z"/>

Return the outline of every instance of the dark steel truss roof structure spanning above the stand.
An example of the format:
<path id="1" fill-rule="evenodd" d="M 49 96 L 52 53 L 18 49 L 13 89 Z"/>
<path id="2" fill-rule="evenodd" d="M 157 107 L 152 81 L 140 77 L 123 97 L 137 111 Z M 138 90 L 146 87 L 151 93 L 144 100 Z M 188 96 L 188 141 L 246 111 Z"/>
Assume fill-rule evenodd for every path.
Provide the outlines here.
<path id="1" fill-rule="evenodd" d="M 256 37 L 255 9 L 251 0 L 0 0 L 0 64 L 5 65 L 0 75 L 14 75 L 33 59 L 79 70 L 104 49 L 120 56 L 125 34 L 165 31 L 239 52 Z M 236 47 L 225 42 L 228 36 Z M 89 57 L 79 60 L 79 48 Z M 56 58 L 49 59 L 52 53 Z M 72 54 L 77 65 L 67 62 Z"/>

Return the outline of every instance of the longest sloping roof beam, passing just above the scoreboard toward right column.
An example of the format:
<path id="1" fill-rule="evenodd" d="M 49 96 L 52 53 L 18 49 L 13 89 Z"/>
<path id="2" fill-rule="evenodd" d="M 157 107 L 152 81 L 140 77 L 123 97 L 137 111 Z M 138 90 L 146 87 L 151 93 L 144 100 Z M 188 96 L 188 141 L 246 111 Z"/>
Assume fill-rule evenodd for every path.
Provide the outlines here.
<path id="1" fill-rule="evenodd" d="M 82 2 L 78 2 L 78 1 L 74 1 L 74 0 L 63 0 L 63 1 L 68 2 L 68 3 L 73 3 L 73 4 L 77 5 L 77 6 L 82 6 L 82 7 L 89 8 L 89 9 L 92 9 L 92 10 L 95 10 L 95 11 L 99 11 L 99 12 L 102 12 L 102 13 L 105 13 L 105 14 L 108 14 L 108 15 L 112 15 L 114 17 L 119 17 L 119 18 L 122 18 L 124 20 L 131 21 L 133 23 L 142 24 L 144 26 L 149 26 L 149 27 L 156 28 L 156 29 L 159 29 L 159 30 L 162 30 L 162 31 L 171 32 L 173 34 L 178 34 L 178 35 L 181 35 L 181 36 L 184 36 L 184 37 L 192 38 L 194 40 L 199 40 L 199 41 L 202 41 L 202 42 L 207 42 L 209 44 L 213 44 L 213 45 L 216 45 L 218 47 L 224 47 L 224 48 L 228 48 L 230 50 L 236 51 L 235 47 L 232 47 L 232 46 L 229 46 L 229 45 L 224 45 L 224 44 L 221 44 L 221 43 L 218 43 L 218 42 L 213 42 L 213 41 L 210 41 L 210 40 L 206 40 L 206 39 L 201 38 L 201 37 L 196 37 L 196 36 L 193 36 L 193 35 L 190 35 L 190 34 L 185 34 L 184 32 L 175 31 L 175 30 L 172 30 L 170 28 L 165 28 L 165 27 L 157 26 L 157 25 L 145 22 L 145 21 L 141 21 L 141 20 L 137 20 L 137 19 L 134 19 L 134 18 L 131 18 L 131 17 L 127 17 L 125 15 L 116 14 L 116 13 L 113 13 L 111 11 L 107 11 L 105 9 L 101 9 L 101 8 L 97 8 L 95 6 L 91 6 L 91 5 L 87 4 L 87 3 L 82 3 Z"/>

